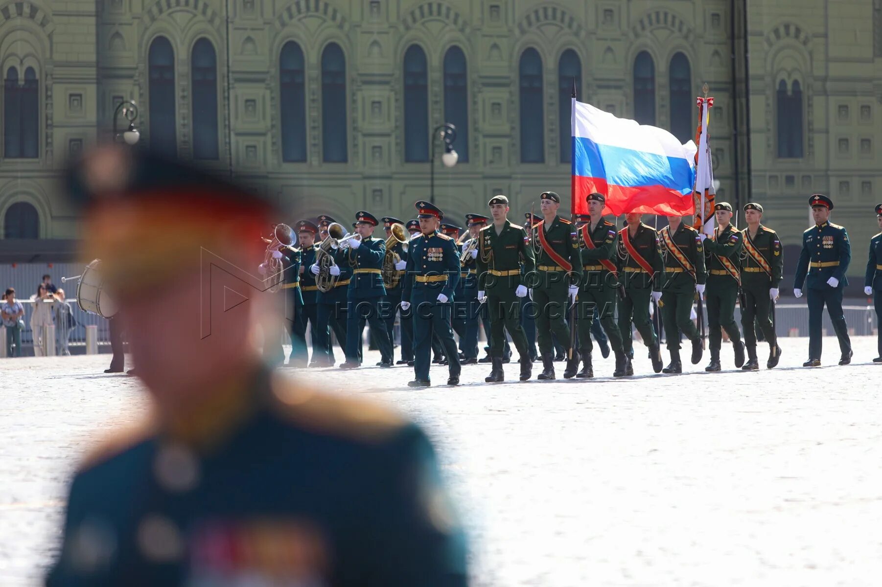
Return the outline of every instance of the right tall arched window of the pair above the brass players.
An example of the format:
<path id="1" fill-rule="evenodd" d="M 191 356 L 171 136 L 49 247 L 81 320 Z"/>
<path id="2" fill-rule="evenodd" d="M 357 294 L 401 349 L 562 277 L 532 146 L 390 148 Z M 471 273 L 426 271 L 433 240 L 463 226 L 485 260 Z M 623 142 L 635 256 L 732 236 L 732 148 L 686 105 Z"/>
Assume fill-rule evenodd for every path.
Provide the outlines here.
<path id="1" fill-rule="evenodd" d="M 322 51 L 322 153 L 329 163 L 346 163 L 346 57 L 337 43 Z"/>

